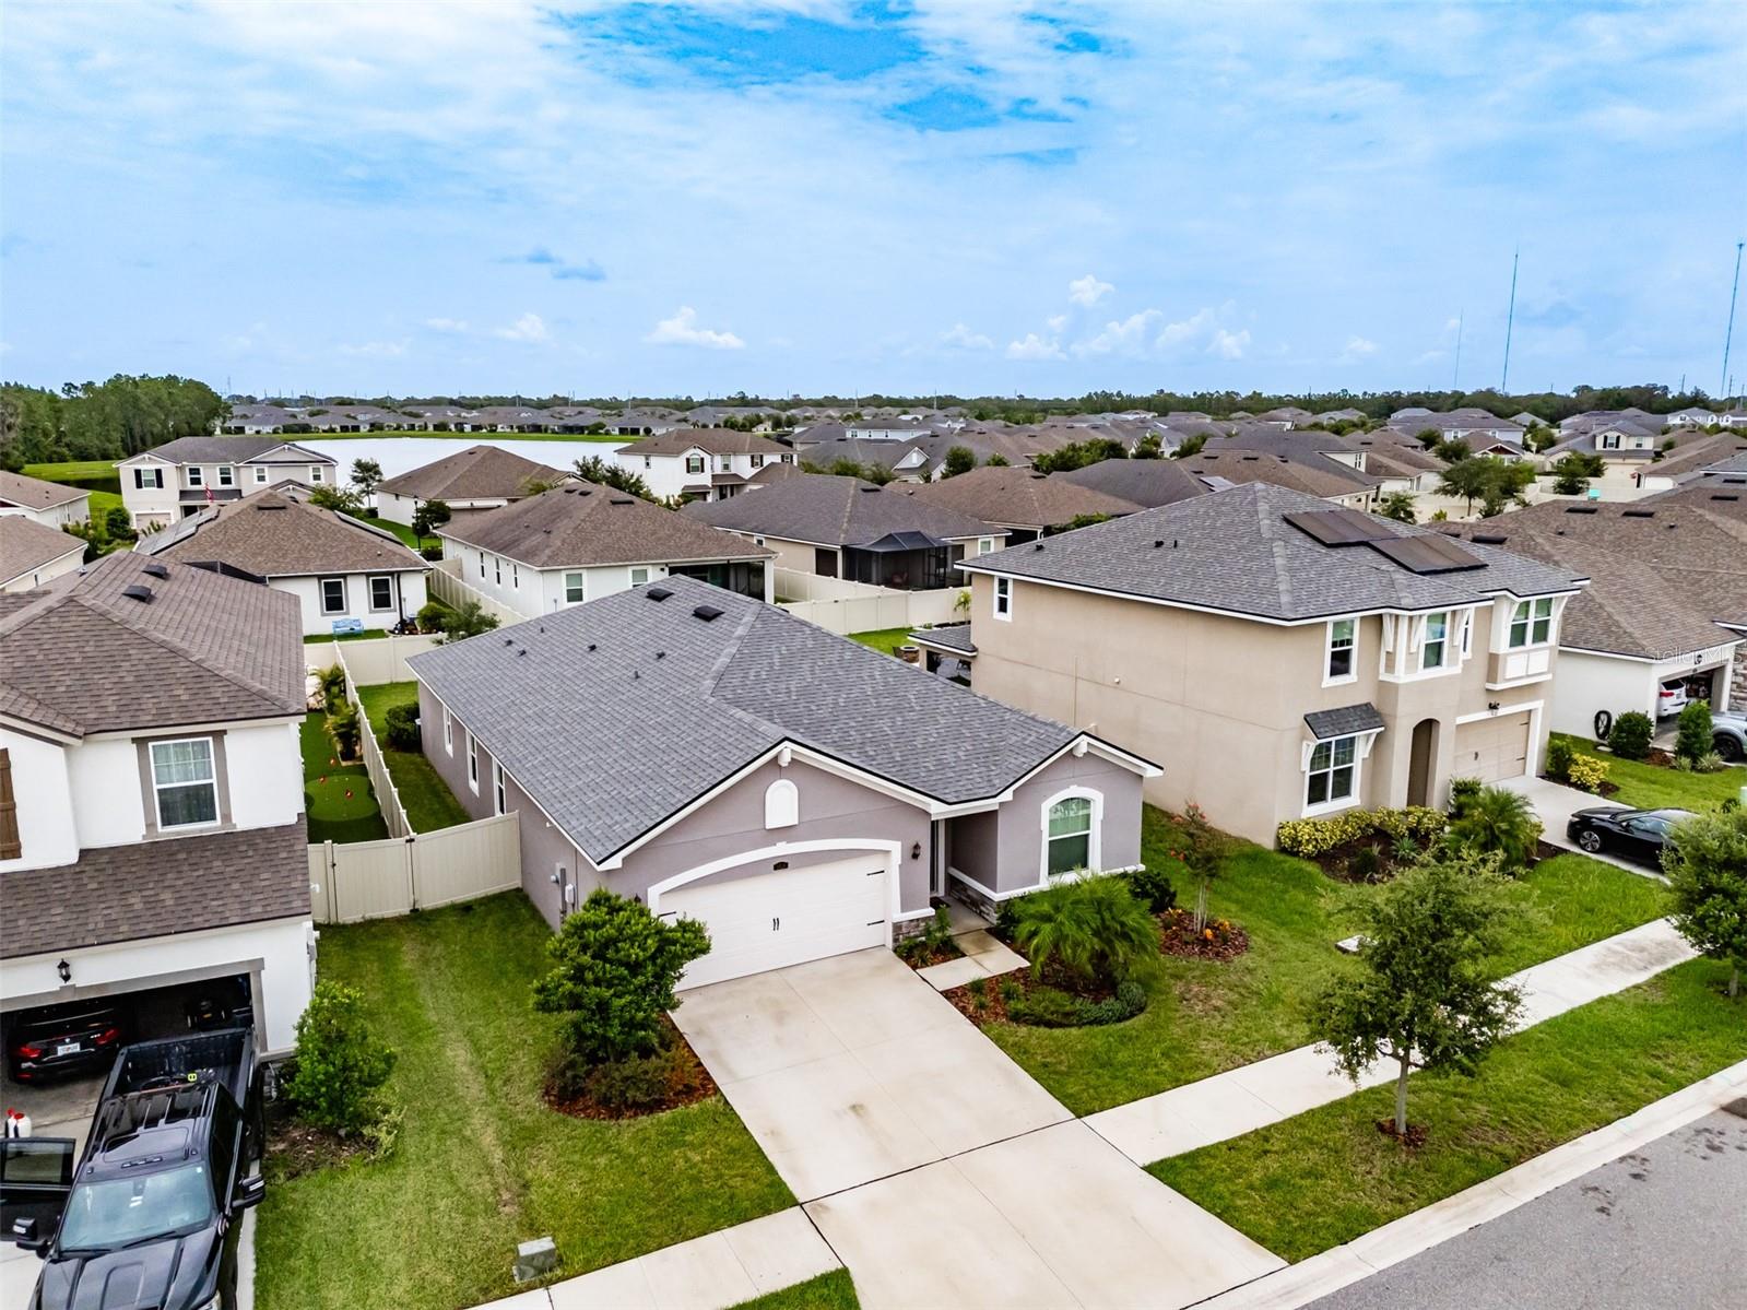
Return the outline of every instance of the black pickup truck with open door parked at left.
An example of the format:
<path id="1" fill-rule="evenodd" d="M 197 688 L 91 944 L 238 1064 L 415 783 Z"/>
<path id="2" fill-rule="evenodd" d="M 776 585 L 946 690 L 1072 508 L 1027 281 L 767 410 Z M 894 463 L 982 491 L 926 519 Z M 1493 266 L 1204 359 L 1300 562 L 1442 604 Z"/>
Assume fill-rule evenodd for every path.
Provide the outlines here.
<path id="1" fill-rule="evenodd" d="M 31 1310 L 232 1310 L 260 1142 L 252 1029 L 122 1048 L 77 1170 L 68 1139 L 3 1144 L 7 1237 L 44 1261 Z"/>

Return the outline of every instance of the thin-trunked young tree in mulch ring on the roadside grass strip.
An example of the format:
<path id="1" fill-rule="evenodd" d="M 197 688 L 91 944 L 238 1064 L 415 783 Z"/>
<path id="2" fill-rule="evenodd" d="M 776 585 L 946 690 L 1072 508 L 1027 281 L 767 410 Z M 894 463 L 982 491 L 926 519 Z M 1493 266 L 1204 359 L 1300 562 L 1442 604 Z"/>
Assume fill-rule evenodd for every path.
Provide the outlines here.
<path id="1" fill-rule="evenodd" d="M 1342 1072 L 1357 1081 L 1394 1060 L 1396 1135 L 1408 1130 L 1408 1072 L 1474 1074 L 1522 1006 L 1515 987 L 1485 975 L 1509 914 L 1506 887 L 1495 856 L 1427 856 L 1357 905 L 1359 973 L 1315 999 L 1312 1025 Z"/>

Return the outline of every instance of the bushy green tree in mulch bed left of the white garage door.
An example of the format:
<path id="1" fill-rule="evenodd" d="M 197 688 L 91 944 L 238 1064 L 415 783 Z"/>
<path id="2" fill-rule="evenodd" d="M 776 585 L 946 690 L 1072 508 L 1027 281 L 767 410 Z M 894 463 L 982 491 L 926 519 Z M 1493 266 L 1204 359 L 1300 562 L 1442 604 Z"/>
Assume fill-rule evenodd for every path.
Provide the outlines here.
<path id="1" fill-rule="evenodd" d="M 680 975 L 708 952 L 695 919 L 657 919 L 596 887 L 547 941 L 552 969 L 535 983 L 535 1010 L 564 1017 L 564 1038 L 587 1064 L 652 1055 L 662 1015 L 680 1004 Z"/>

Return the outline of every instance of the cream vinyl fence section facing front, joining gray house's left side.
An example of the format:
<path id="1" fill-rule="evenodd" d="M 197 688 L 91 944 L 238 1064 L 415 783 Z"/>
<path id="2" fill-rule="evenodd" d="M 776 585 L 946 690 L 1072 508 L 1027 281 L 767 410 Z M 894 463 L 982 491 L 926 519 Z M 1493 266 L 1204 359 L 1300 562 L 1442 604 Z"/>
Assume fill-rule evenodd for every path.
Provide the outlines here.
<path id="1" fill-rule="evenodd" d="M 435 910 L 512 891 L 521 882 L 522 844 L 514 814 L 381 842 L 309 847 L 309 898 L 318 924 Z"/>

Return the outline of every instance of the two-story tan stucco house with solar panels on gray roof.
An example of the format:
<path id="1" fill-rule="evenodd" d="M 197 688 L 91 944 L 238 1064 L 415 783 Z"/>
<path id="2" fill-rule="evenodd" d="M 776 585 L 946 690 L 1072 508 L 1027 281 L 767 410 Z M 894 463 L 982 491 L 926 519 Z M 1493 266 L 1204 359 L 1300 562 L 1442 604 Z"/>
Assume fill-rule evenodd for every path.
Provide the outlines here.
<path id="1" fill-rule="evenodd" d="M 1272 842 L 1532 774 L 1585 578 L 1263 482 L 973 561 L 977 690 L 1164 765 Z"/>

